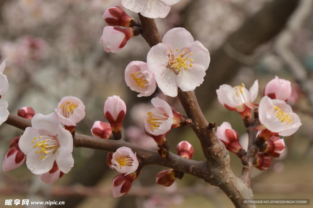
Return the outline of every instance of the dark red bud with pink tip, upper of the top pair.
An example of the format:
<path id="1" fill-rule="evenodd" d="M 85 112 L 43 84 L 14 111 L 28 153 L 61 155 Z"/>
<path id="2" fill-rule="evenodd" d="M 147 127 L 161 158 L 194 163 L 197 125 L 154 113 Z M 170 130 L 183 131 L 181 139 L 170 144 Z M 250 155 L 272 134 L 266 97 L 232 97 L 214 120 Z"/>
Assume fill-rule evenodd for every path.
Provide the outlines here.
<path id="1" fill-rule="evenodd" d="M 129 16 L 121 7 L 115 6 L 105 10 L 102 18 L 110 26 L 121 26 L 125 28 L 141 27 L 140 21 Z"/>

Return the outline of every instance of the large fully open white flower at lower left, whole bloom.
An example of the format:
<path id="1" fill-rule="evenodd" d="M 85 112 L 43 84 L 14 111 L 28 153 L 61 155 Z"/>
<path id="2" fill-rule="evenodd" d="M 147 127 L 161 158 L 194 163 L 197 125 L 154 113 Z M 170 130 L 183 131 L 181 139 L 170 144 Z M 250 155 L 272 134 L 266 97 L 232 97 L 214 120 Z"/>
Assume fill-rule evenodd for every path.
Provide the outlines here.
<path id="1" fill-rule="evenodd" d="M 32 127 L 27 127 L 19 140 L 19 148 L 26 156 L 26 165 L 34 174 L 52 169 L 54 160 L 60 171 L 68 173 L 74 165 L 73 138 L 65 130 L 55 113 L 36 114 Z"/>

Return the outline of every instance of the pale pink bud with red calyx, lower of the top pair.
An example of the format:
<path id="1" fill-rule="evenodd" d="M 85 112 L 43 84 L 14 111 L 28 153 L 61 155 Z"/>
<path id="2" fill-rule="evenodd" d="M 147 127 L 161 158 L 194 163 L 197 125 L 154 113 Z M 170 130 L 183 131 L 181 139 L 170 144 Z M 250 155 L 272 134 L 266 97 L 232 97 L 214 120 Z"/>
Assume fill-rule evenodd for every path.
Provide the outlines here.
<path id="1" fill-rule="evenodd" d="M 129 39 L 141 34 L 141 28 L 120 28 L 105 26 L 103 35 L 100 38 L 100 43 L 103 43 L 106 52 L 116 53 L 121 50 Z"/>

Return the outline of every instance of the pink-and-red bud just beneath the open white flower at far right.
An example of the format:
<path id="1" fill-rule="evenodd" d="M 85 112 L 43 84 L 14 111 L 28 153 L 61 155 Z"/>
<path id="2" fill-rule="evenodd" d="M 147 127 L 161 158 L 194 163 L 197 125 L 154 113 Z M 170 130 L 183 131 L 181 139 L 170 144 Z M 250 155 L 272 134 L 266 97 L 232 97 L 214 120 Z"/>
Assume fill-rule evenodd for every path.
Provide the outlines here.
<path id="1" fill-rule="evenodd" d="M 265 144 L 267 144 L 267 147 L 264 152 L 272 157 L 279 157 L 285 149 L 284 139 L 280 139 L 278 136 L 272 136 L 269 140 L 265 141 Z"/>

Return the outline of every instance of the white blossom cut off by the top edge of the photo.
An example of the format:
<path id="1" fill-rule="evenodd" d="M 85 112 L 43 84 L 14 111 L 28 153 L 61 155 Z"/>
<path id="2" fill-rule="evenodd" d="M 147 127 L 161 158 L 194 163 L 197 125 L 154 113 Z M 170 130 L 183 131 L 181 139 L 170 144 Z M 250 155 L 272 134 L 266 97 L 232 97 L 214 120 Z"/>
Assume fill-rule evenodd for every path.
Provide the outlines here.
<path id="1" fill-rule="evenodd" d="M 180 0 L 122 0 L 123 7 L 148 18 L 165 18 Z"/>

